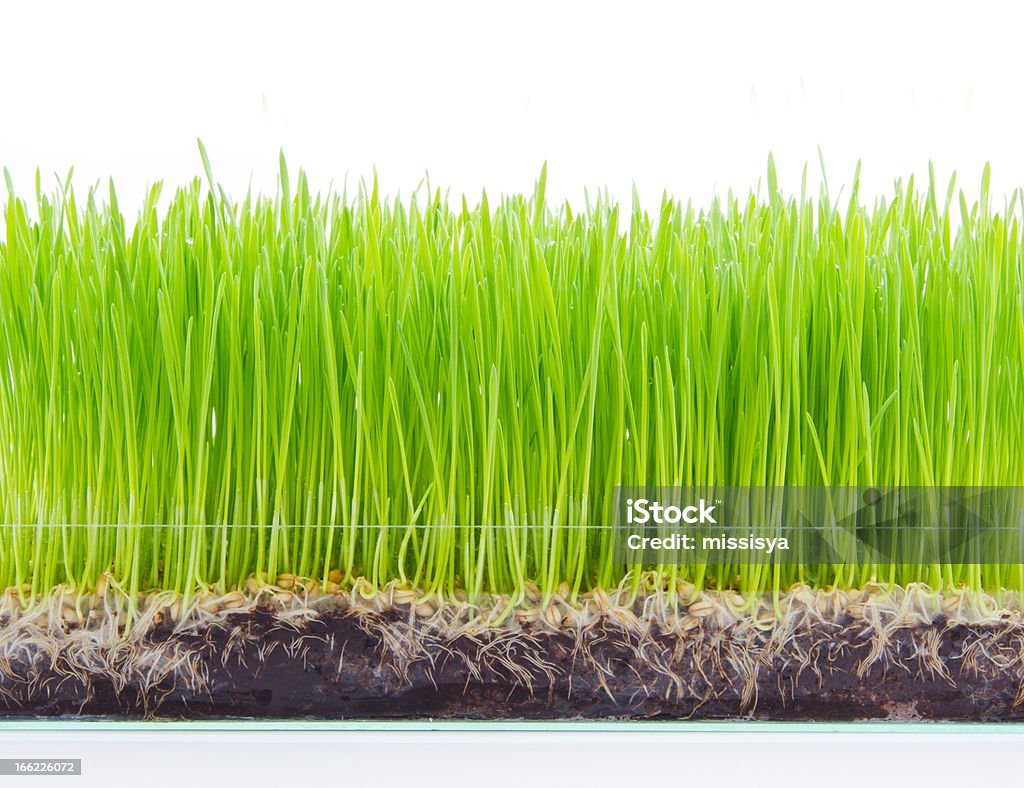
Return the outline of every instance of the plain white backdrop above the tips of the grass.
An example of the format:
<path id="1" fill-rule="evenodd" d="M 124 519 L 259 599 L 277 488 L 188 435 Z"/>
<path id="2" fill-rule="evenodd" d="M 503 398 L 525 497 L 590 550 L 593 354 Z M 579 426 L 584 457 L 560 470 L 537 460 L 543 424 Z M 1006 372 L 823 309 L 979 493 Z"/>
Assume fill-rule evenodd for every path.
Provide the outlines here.
<path id="1" fill-rule="evenodd" d="M 276 155 L 314 183 L 432 182 L 476 195 L 584 186 L 645 202 L 745 191 L 775 152 L 799 186 L 817 148 L 834 191 L 955 168 L 969 193 L 1024 184 L 1018 3 L 7 3 L 0 162 L 19 190 L 201 172 L 272 188 Z"/>

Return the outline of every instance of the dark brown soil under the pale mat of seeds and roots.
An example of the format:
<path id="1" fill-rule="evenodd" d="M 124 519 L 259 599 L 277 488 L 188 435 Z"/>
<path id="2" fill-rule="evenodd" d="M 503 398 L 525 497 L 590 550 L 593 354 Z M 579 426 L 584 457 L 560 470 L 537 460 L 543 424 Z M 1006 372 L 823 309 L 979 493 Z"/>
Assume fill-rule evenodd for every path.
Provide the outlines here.
<path id="1" fill-rule="evenodd" d="M 881 658 L 856 628 L 798 632 L 774 650 L 608 622 L 395 645 L 416 636 L 397 616 L 234 614 L 198 633 L 154 630 L 137 650 L 173 646 L 190 667 L 148 686 L 24 648 L 0 664 L 0 716 L 1024 719 L 1018 630 L 898 629 Z"/>

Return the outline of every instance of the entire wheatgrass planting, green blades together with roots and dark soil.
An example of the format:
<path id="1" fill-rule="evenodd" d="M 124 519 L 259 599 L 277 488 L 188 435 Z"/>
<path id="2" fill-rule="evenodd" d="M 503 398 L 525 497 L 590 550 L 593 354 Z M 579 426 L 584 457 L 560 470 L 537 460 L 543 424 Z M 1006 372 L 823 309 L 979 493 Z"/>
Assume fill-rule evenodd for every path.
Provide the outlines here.
<path id="1" fill-rule="evenodd" d="M 1024 485 L 987 170 L 648 213 L 284 161 L 234 203 L 202 160 L 134 219 L 7 179 L 0 716 L 1024 719 L 1002 532 L 658 563 L 610 527 L 624 485 Z"/>

